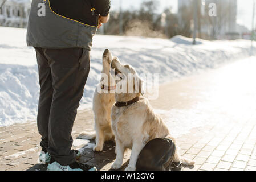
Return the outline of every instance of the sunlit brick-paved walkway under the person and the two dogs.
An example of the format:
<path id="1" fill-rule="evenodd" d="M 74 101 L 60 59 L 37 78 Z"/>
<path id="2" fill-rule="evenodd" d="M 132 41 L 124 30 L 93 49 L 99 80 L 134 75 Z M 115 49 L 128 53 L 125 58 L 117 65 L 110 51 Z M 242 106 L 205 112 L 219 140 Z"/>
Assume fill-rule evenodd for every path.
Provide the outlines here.
<path id="1" fill-rule="evenodd" d="M 150 102 L 165 113 L 181 113 L 180 118 L 174 115 L 171 126 L 182 127 L 170 132 L 177 136 L 180 153 L 196 162 L 182 170 L 256 170 L 255 66 L 252 57 L 160 86 L 159 98 Z M 74 139 L 83 130 L 92 131 L 93 125 L 92 110 L 79 111 Z M 0 127 L 0 170 L 46 169 L 36 164 L 39 142 L 36 122 Z M 83 151 L 80 162 L 109 170 L 115 144 L 108 142 L 99 153 L 92 152 L 93 145 L 94 141 L 74 140 L 74 148 Z M 130 152 L 125 153 L 122 169 Z"/>

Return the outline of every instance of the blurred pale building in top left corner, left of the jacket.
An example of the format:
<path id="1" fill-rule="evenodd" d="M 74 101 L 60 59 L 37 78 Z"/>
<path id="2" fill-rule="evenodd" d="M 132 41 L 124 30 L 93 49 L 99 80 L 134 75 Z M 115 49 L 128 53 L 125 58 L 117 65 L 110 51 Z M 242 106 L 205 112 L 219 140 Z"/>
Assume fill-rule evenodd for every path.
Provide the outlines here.
<path id="1" fill-rule="evenodd" d="M 0 0 L 0 26 L 27 27 L 31 0 Z"/>

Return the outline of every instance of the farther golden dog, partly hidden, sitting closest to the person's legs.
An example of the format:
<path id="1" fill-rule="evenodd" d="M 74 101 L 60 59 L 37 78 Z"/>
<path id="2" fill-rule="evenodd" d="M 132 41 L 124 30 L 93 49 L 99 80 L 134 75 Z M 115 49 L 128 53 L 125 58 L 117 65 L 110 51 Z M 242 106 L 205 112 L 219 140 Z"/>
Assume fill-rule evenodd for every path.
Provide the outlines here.
<path id="1" fill-rule="evenodd" d="M 101 81 L 95 89 L 92 101 L 96 133 L 84 132 L 78 136 L 78 138 L 82 139 L 94 139 L 96 137 L 94 151 L 98 152 L 103 150 L 105 141 L 114 139 L 110 117 L 111 107 L 115 103 L 115 81 L 114 78 L 111 79 L 110 74 L 112 58 L 111 52 L 106 49 L 102 59 Z"/>

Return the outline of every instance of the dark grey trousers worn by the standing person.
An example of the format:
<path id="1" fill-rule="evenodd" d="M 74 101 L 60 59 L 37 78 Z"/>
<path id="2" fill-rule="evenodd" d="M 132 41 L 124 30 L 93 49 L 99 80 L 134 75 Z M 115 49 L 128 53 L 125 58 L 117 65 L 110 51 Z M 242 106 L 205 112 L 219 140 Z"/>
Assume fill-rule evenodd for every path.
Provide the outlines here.
<path id="1" fill-rule="evenodd" d="M 79 101 L 90 71 L 90 51 L 83 48 L 35 47 L 40 97 L 38 131 L 40 146 L 62 166 L 75 162 L 71 136 Z"/>

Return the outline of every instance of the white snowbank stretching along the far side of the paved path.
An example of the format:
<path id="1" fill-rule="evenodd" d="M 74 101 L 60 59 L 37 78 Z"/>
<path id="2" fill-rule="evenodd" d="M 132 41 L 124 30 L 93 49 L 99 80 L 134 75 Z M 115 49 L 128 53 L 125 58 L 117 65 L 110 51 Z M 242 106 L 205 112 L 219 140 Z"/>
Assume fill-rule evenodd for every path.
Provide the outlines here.
<path id="1" fill-rule="evenodd" d="M 99 82 L 105 48 L 141 73 L 159 73 L 160 83 L 248 57 L 250 41 L 198 40 L 176 36 L 153 39 L 96 35 L 91 51 L 91 71 L 79 109 L 91 107 Z M 254 47 L 255 48 L 255 47 Z M 0 27 L 0 126 L 36 119 L 39 96 L 35 51 L 26 47 L 26 30 Z"/>

